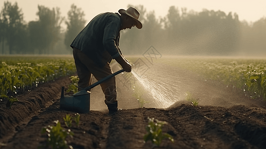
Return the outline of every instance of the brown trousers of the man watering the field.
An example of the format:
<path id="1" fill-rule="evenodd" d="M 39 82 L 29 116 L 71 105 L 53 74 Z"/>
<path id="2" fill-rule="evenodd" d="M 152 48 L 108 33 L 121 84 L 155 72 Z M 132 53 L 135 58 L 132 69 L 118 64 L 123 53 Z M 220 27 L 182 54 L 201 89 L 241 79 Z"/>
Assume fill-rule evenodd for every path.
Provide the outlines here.
<path id="1" fill-rule="evenodd" d="M 78 85 L 80 88 L 85 88 L 92 84 L 92 75 L 97 79 L 113 74 L 110 64 L 107 63 L 103 68 L 99 68 L 90 60 L 81 50 L 73 48 L 73 56 L 77 68 L 77 73 L 80 78 Z M 116 81 L 115 77 L 111 77 L 100 84 L 105 95 L 105 104 L 110 105 L 117 102 Z M 81 89 L 80 89 L 81 90 Z"/>

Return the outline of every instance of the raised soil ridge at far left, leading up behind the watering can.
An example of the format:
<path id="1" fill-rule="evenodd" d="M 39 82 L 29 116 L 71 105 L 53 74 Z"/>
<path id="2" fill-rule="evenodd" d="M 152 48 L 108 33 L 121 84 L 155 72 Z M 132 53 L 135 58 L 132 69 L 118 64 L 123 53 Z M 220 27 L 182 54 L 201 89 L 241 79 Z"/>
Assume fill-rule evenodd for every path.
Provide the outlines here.
<path id="1" fill-rule="evenodd" d="M 60 88 L 70 83 L 69 76 L 59 78 L 32 89 L 30 92 L 18 95 L 18 102 L 14 102 L 11 109 L 0 103 L 0 143 L 7 140 L 23 128 L 35 115 L 53 104 L 59 97 Z M 53 89 L 51 89 L 53 88 Z"/>

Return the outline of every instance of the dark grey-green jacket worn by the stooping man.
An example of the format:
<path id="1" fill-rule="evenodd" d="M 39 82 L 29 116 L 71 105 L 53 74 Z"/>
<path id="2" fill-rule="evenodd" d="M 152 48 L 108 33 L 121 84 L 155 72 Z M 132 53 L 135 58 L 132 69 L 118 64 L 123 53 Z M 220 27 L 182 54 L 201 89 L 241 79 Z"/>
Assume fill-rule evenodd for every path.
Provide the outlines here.
<path id="1" fill-rule="evenodd" d="M 84 52 L 98 67 L 122 55 L 119 49 L 121 19 L 118 13 L 96 15 L 70 45 Z"/>

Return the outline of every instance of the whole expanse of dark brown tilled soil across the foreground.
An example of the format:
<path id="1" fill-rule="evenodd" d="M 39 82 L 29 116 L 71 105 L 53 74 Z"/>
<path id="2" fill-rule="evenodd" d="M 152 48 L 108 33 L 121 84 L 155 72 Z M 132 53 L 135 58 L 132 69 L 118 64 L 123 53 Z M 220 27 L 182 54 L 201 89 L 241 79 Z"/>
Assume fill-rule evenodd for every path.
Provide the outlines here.
<path id="1" fill-rule="evenodd" d="M 73 138 L 67 138 L 74 149 L 266 149 L 265 102 L 231 107 L 199 103 L 193 107 L 178 101 L 168 109 L 122 109 L 113 115 L 108 114 L 107 107 L 92 108 L 80 114 L 79 126 L 73 122 L 68 128 L 63 117 L 75 117 L 75 112 L 60 109 L 59 99 L 61 86 L 69 82 L 64 77 L 21 94 L 11 109 L 5 107 L 6 101 L 0 102 L 0 148 L 46 149 L 48 136 L 41 134 L 41 129 L 59 120 L 64 129 L 74 133 Z M 144 143 L 148 117 L 168 122 L 163 132 L 172 135 L 175 142 L 165 139 L 160 147 Z"/>

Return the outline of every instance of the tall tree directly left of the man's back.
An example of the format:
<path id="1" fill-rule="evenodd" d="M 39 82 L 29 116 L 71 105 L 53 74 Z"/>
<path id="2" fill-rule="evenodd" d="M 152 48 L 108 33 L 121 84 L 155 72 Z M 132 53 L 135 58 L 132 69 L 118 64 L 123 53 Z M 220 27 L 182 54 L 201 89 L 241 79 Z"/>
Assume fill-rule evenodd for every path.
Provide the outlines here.
<path id="1" fill-rule="evenodd" d="M 78 8 L 75 4 L 71 5 L 71 9 L 68 11 L 67 31 L 65 34 L 65 45 L 70 46 L 72 41 L 78 35 L 78 33 L 85 27 L 86 20 L 84 19 L 84 11 Z"/>

